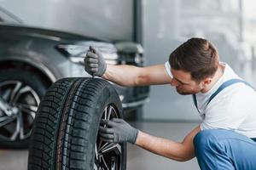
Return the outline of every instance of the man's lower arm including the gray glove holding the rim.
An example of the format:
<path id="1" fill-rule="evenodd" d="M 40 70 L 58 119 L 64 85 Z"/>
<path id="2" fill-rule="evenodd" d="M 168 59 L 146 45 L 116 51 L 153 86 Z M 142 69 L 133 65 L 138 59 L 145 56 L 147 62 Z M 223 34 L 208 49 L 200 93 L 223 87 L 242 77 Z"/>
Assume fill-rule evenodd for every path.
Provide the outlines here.
<path id="1" fill-rule="evenodd" d="M 154 154 L 166 156 L 176 161 L 188 161 L 195 156 L 193 140 L 195 135 L 201 131 L 200 126 L 197 126 L 183 139 L 182 143 L 177 143 L 170 139 L 158 138 L 143 133 L 137 128 L 131 127 L 123 119 L 102 120 L 101 124 L 108 125 L 108 127 L 101 126 L 99 128 L 100 138 L 105 142 L 130 142 Z"/>

